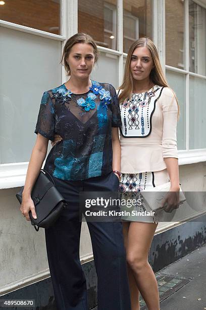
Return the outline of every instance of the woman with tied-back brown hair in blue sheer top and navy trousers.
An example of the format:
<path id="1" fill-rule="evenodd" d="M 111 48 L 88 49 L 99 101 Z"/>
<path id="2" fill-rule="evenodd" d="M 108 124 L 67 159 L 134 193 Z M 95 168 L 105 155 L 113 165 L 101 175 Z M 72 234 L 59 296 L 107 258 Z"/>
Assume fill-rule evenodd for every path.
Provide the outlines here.
<path id="1" fill-rule="evenodd" d="M 52 175 L 68 206 L 45 229 L 46 249 L 59 310 L 87 310 L 86 279 L 79 258 L 81 191 L 118 190 L 120 107 L 114 87 L 90 80 L 97 47 L 87 34 L 66 42 L 62 62 L 70 79 L 44 92 L 37 134 L 26 175 L 21 212 L 36 218 L 32 187 L 46 157 L 48 140 L 61 140 L 50 150 L 44 169 Z M 117 172 L 116 172 L 117 171 Z M 98 279 L 99 310 L 129 310 L 130 294 L 122 223 L 88 222 Z"/>

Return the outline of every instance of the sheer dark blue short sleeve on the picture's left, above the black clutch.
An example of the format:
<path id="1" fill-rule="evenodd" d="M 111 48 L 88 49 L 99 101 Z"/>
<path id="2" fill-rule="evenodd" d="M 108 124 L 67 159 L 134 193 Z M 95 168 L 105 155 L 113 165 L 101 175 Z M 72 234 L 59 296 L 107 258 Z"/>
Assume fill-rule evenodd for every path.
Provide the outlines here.
<path id="1" fill-rule="evenodd" d="M 55 135 L 55 110 L 52 99 L 48 92 L 44 92 L 36 123 L 36 134 L 40 133 L 43 137 L 54 140 Z"/>

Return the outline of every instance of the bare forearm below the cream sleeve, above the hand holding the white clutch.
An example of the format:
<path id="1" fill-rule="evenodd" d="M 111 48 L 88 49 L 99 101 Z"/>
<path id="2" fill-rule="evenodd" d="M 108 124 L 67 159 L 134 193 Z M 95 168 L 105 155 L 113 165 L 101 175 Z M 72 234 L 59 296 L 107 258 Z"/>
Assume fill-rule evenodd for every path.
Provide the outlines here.
<path id="1" fill-rule="evenodd" d="M 179 185 L 179 167 L 177 158 L 164 158 L 167 170 L 170 176 L 171 189 L 178 190 Z"/>

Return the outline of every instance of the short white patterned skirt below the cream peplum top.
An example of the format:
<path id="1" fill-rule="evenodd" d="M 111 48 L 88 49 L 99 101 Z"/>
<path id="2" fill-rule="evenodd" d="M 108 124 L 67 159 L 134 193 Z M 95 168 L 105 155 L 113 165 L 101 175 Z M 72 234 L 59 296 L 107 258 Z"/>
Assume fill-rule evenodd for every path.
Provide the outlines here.
<path id="1" fill-rule="evenodd" d="M 167 183 L 168 181 L 169 174 L 167 169 L 155 172 L 122 173 L 119 186 L 120 200 L 128 201 L 136 199 L 138 193 L 141 193 L 141 191 L 149 191 L 151 188 Z M 139 212 L 143 214 L 151 211 L 146 210 L 143 205 L 131 206 L 129 208 L 128 206 L 128 204 L 127 206 L 121 204 L 122 220 L 147 223 L 157 222 L 155 217 L 148 213 L 147 215 L 139 215 Z"/>

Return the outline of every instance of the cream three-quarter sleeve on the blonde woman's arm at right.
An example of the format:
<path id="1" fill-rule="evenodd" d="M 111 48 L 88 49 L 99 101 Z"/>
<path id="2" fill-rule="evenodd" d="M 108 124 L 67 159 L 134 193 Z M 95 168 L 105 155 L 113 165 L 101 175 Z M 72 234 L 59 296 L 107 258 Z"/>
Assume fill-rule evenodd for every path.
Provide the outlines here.
<path id="1" fill-rule="evenodd" d="M 161 102 L 163 112 L 163 158 L 173 157 L 178 159 L 176 137 L 178 105 L 170 88 L 163 89 Z"/>

